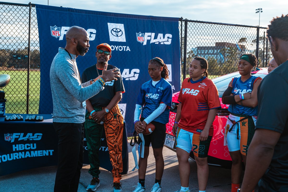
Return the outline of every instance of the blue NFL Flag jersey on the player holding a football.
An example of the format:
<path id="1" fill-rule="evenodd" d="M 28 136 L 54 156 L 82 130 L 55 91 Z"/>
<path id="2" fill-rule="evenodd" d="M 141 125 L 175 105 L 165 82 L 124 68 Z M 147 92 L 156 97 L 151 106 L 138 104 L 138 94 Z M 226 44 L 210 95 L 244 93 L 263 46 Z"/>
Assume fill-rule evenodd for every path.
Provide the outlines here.
<path id="1" fill-rule="evenodd" d="M 151 79 L 141 86 L 137 98 L 136 104 L 143 106 L 141 117 L 148 117 L 159 107 L 160 103 L 165 103 L 167 108 L 153 121 L 166 124 L 169 121 L 169 111 L 172 104 L 172 86 L 163 78 L 153 86 Z"/>

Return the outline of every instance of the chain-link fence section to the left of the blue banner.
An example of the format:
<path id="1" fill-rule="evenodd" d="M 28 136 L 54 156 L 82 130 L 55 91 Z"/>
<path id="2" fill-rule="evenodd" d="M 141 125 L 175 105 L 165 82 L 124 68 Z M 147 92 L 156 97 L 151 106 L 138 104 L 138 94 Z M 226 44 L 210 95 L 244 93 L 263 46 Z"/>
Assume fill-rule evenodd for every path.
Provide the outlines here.
<path id="1" fill-rule="evenodd" d="M 37 114 L 40 51 L 35 6 L 1 4 L 0 23 L 0 74 L 11 77 L 9 85 L 3 88 L 6 113 Z"/>

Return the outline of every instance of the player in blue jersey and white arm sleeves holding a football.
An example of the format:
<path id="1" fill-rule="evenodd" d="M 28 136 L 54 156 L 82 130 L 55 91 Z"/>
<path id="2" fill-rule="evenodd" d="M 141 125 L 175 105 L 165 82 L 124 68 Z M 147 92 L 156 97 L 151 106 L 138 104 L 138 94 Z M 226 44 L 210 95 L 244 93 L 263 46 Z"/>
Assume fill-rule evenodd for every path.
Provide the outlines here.
<path id="1" fill-rule="evenodd" d="M 166 81 L 168 79 L 168 68 L 162 59 L 158 57 L 151 59 L 148 64 L 148 73 L 151 80 L 141 86 L 134 113 L 134 128 L 137 133 L 142 133 L 146 125 L 152 123 L 155 130 L 149 135 L 144 135 L 144 158 L 139 159 L 139 183 L 133 192 L 146 191 L 145 174 L 150 143 L 156 163 L 155 184 L 151 191 L 160 192 L 162 190 L 161 178 L 164 171 L 162 150 L 166 123 L 169 120 L 169 109 L 172 104 L 172 86 Z M 141 119 L 139 120 L 140 114 Z"/>

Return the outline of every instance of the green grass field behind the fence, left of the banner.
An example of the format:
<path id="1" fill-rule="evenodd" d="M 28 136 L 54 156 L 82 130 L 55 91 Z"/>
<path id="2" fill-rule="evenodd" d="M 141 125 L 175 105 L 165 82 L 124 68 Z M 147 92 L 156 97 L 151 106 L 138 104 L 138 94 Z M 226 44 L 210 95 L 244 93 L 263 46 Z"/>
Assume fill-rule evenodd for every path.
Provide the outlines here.
<path id="1" fill-rule="evenodd" d="M 27 71 L 1 71 L 11 79 L 3 88 L 5 92 L 6 113 L 26 113 Z M 38 114 L 40 97 L 40 71 L 30 71 L 29 75 L 29 113 Z"/>

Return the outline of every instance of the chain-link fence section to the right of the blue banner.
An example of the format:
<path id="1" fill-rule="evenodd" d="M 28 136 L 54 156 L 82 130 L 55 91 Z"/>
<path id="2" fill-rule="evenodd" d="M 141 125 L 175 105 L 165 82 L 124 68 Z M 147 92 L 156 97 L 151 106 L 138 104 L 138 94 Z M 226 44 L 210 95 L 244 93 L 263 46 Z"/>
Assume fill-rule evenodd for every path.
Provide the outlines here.
<path id="1" fill-rule="evenodd" d="M 189 77 L 189 65 L 196 56 L 208 61 L 210 79 L 238 71 L 242 54 L 254 54 L 258 58 L 257 67 L 266 67 L 271 58 L 264 27 L 183 19 L 179 23 L 183 79 Z"/>

